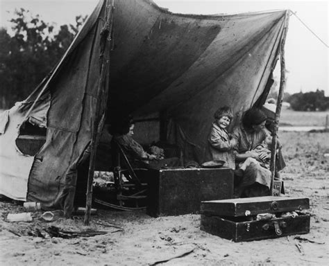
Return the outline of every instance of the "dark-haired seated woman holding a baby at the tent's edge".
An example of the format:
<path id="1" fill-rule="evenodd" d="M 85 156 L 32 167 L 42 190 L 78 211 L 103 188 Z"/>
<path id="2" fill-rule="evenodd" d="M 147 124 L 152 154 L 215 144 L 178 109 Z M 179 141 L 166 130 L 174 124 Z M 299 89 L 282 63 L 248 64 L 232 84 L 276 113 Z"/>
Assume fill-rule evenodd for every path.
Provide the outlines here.
<path id="1" fill-rule="evenodd" d="M 242 117 L 242 123 L 235 127 L 233 134 L 237 139 L 235 162 L 237 164 L 251 157 L 257 161 L 264 161 L 269 157 L 267 152 L 251 152 L 262 143 L 267 132 L 264 130 L 267 116 L 256 108 L 248 109 Z M 249 151 L 249 152 L 248 152 Z M 249 163 L 242 180 L 235 188 L 237 197 L 261 197 L 269 195 L 271 186 L 271 171 L 260 163 Z"/>

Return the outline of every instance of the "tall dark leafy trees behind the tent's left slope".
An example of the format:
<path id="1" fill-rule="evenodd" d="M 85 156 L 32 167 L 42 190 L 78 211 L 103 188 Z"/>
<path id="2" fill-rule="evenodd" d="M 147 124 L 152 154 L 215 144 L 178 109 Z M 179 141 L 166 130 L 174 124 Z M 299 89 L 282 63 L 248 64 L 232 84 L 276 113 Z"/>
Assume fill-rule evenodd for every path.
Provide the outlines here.
<path id="1" fill-rule="evenodd" d="M 12 35 L 0 28 L 0 108 L 22 100 L 55 67 L 86 17 L 77 16 L 76 25 L 62 25 L 56 33 L 53 24 L 33 16 L 28 10 L 15 10 Z"/>

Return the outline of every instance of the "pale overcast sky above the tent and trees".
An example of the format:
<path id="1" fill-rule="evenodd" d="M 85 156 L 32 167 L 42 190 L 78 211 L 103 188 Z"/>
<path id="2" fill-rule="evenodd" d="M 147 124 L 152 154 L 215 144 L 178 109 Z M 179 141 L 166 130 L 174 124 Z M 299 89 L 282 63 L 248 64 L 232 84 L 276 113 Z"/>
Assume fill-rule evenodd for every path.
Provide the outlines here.
<path id="1" fill-rule="evenodd" d="M 133 1 L 133 0 L 126 0 Z M 222 1 L 154 0 L 158 6 L 183 14 L 236 14 L 264 10 L 292 10 L 327 45 L 329 43 L 329 1 Z M 74 24 L 76 15 L 89 15 L 98 0 L 0 0 L 0 26 L 8 27 L 10 11 L 25 8 L 46 22 Z M 329 96 L 329 48 L 310 33 L 294 15 L 289 19 L 285 43 L 286 88 L 299 91 L 325 91 Z M 280 64 L 274 77 L 280 81 Z"/>

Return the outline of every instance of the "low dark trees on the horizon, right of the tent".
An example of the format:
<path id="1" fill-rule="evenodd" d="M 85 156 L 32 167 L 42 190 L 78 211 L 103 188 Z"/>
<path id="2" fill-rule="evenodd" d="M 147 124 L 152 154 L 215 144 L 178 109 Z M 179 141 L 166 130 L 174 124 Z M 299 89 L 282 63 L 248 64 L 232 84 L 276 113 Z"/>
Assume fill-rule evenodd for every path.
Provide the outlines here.
<path id="1" fill-rule="evenodd" d="M 310 91 L 303 94 L 292 94 L 288 98 L 292 109 L 295 111 L 326 111 L 329 109 L 329 97 L 324 95 L 324 91 Z"/>

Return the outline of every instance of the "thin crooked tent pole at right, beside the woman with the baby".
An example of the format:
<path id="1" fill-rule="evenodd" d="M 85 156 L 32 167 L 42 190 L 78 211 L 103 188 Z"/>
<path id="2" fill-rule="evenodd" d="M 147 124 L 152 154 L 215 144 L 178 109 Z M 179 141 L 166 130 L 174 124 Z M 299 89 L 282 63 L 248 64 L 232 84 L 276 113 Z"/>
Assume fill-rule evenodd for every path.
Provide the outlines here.
<path id="1" fill-rule="evenodd" d="M 273 181 L 274 176 L 276 174 L 276 146 L 277 146 L 277 136 L 278 136 L 278 123 L 280 120 L 281 114 L 281 107 L 282 107 L 282 100 L 283 94 L 285 91 L 285 39 L 287 37 L 287 30 L 288 30 L 288 10 L 285 12 L 285 27 L 283 28 L 283 35 L 280 42 L 280 69 L 281 69 L 281 76 L 280 76 L 280 89 L 278 94 L 278 100 L 276 103 L 276 119 L 274 121 L 274 128 L 273 128 L 273 139 L 271 145 L 271 187 L 270 187 L 270 195 L 273 196 Z"/>

